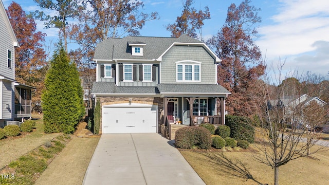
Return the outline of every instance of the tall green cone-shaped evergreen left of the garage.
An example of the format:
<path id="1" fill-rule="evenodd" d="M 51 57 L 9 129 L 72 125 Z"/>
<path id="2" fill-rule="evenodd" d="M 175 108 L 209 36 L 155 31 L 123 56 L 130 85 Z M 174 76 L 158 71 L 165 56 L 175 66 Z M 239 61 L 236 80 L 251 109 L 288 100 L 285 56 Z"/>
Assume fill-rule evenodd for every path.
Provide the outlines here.
<path id="1" fill-rule="evenodd" d="M 75 131 L 84 115 L 82 95 L 78 70 L 60 43 L 50 62 L 42 94 L 45 133 Z"/>

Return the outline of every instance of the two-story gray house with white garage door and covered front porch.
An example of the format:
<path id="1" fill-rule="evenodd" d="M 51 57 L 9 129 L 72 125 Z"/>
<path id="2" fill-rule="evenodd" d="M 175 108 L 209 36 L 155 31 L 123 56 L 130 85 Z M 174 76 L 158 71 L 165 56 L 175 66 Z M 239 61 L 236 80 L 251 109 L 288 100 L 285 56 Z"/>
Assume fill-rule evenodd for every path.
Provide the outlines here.
<path id="1" fill-rule="evenodd" d="M 203 42 L 127 36 L 95 50 L 92 94 L 101 103 L 101 133 L 160 133 L 174 122 L 225 124 L 225 99 L 217 84 L 220 59 Z M 220 107 L 217 109 L 217 107 Z"/>

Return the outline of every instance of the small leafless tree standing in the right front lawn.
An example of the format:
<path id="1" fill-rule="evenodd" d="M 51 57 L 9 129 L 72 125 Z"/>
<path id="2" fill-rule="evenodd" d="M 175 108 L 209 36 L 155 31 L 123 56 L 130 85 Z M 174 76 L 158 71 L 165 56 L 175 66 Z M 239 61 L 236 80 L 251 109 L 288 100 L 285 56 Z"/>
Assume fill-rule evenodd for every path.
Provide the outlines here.
<path id="1" fill-rule="evenodd" d="M 284 63 L 280 62 L 278 66 L 279 82 L 281 82 L 283 65 Z M 258 106 L 257 115 L 261 127 L 266 132 L 262 138 L 258 139 L 260 144 L 257 146 L 260 153 L 254 157 L 257 161 L 274 169 L 274 182 L 277 185 L 279 184 L 279 168 L 282 165 L 323 149 L 323 147 L 317 147 L 315 150 L 310 150 L 319 139 L 313 135 L 315 132 L 308 132 L 308 130 L 310 124 L 313 124 L 312 128 L 315 128 L 318 123 L 322 122 L 314 120 L 311 123 L 309 120 L 314 117 L 323 118 L 325 112 L 315 110 L 316 106 L 312 106 L 312 104 L 305 105 L 305 97 L 300 96 L 301 86 L 294 87 L 296 96 L 284 96 L 285 89 L 289 87 L 280 84 L 277 89 L 273 90 L 268 85 L 273 79 L 269 80 L 267 75 L 264 75 L 263 81 L 265 83 L 258 85 L 260 94 L 255 95 L 253 101 L 255 106 L 261 105 Z M 292 124 L 291 129 L 286 128 L 286 123 Z"/>

